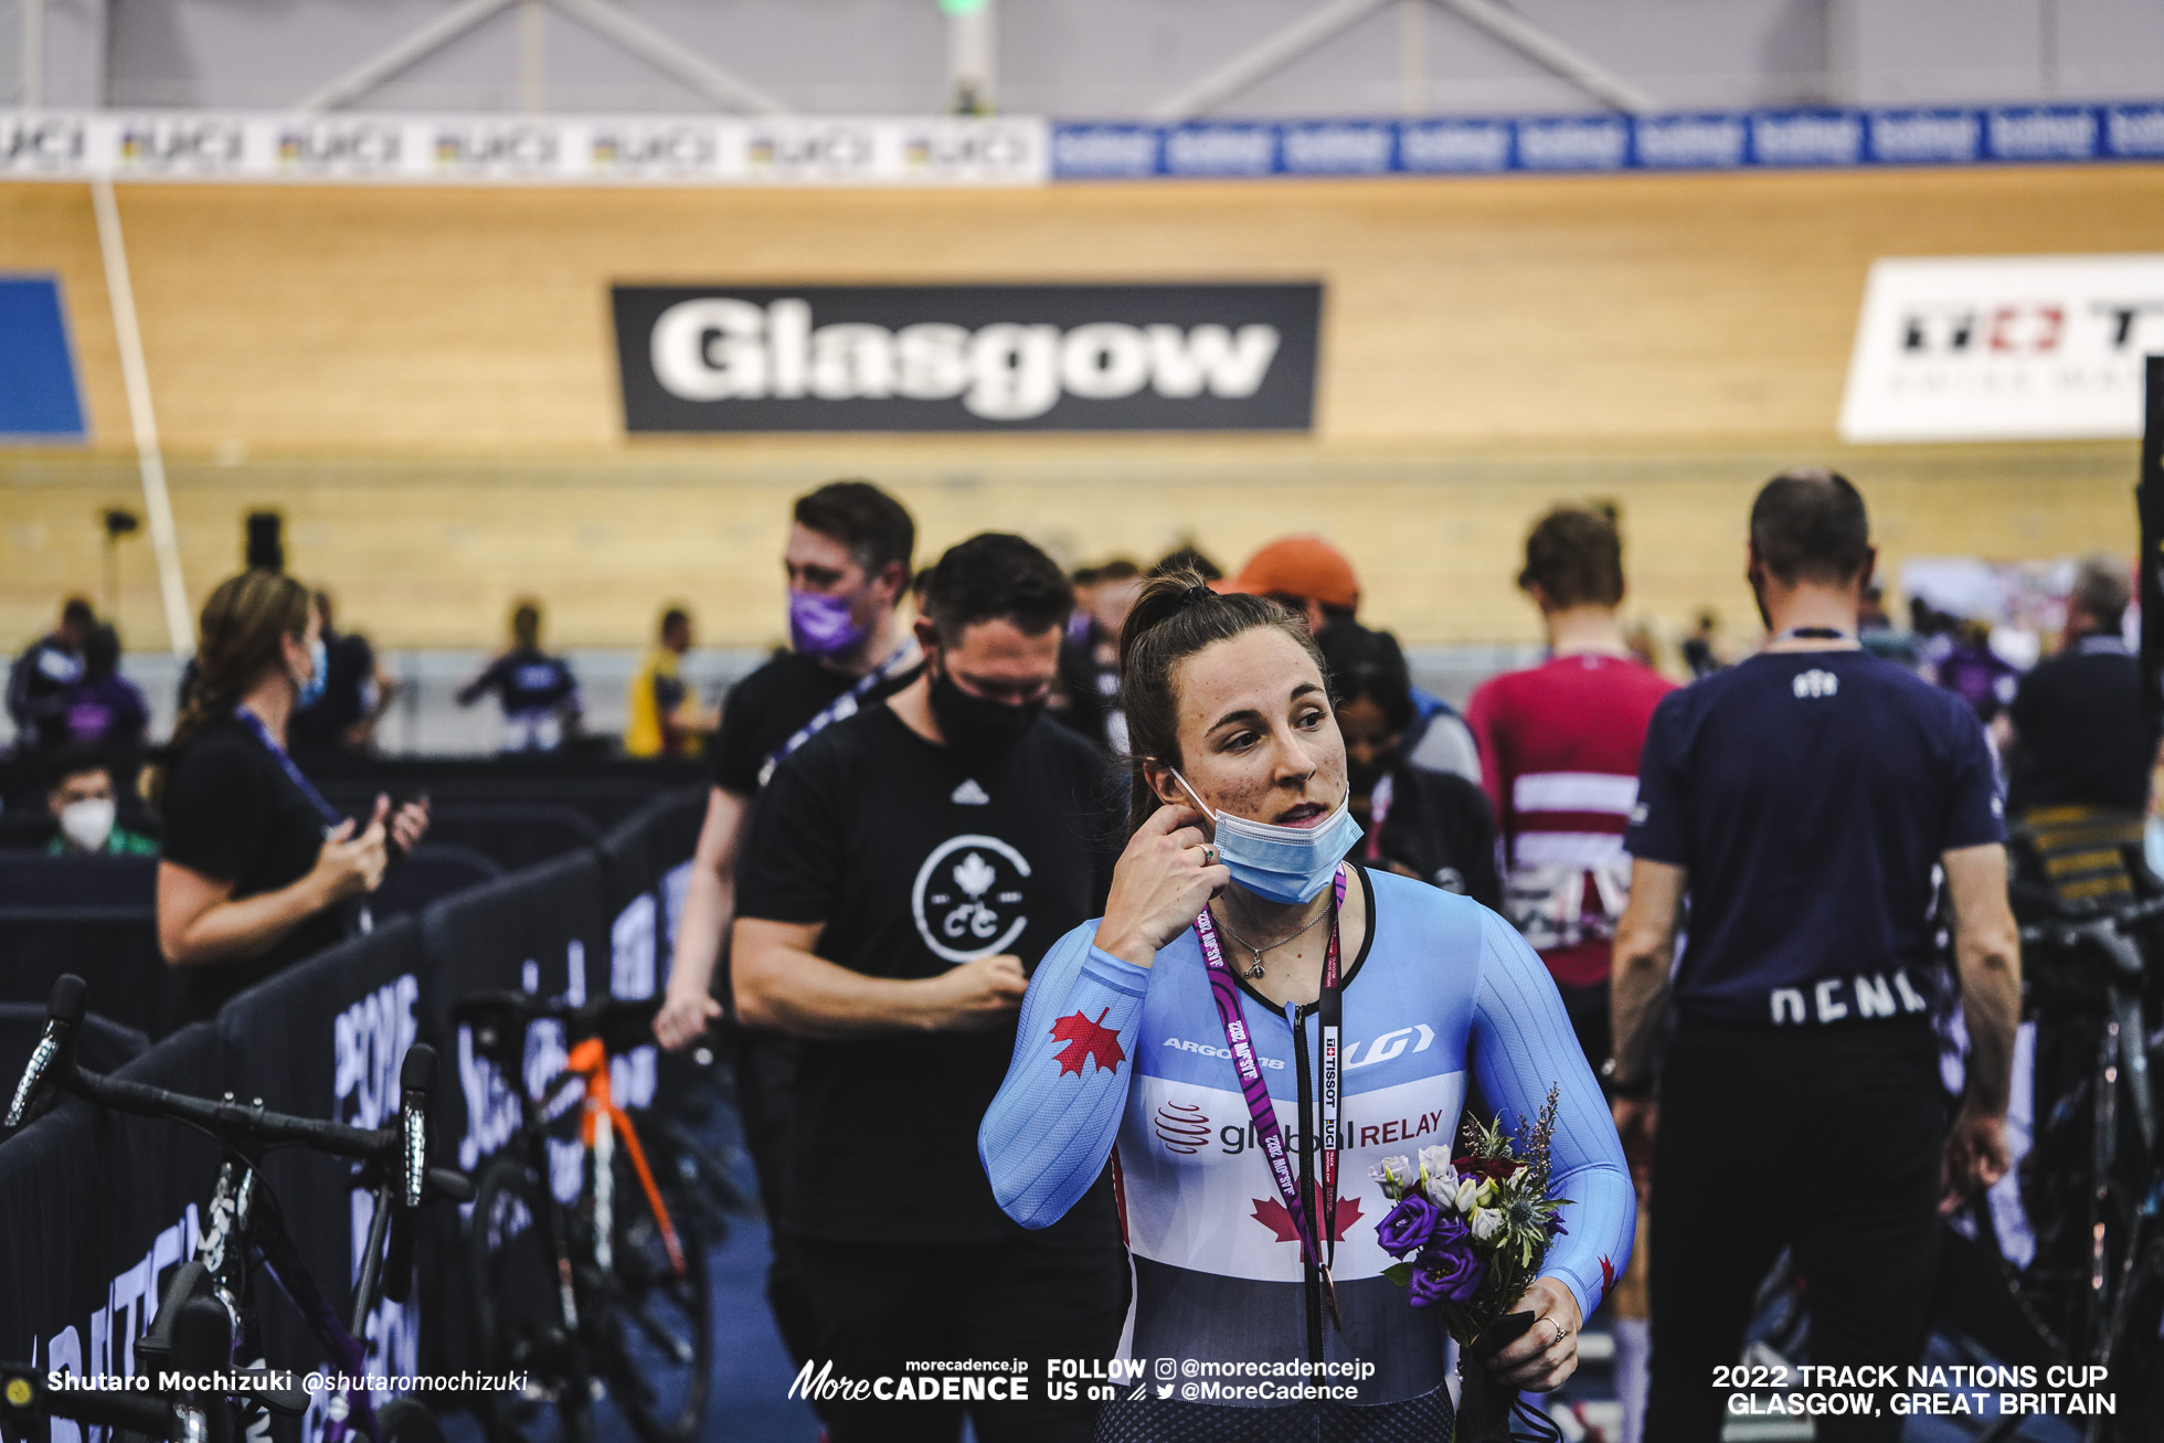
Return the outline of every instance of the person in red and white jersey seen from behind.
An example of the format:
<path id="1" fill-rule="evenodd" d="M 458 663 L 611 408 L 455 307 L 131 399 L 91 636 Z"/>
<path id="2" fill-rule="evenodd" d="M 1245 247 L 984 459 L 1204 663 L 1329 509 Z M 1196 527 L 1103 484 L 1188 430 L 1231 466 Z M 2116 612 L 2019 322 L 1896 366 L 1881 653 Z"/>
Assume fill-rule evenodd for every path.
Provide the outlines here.
<path id="1" fill-rule="evenodd" d="M 1675 686 L 1632 658 L 1617 621 L 1614 517 L 1558 506 L 1526 537 L 1517 584 L 1541 608 L 1549 658 L 1491 677 L 1465 710 L 1495 805 L 1504 911 L 1547 963 L 1586 1060 L 1608 1060 L 1608 943 L 1629 898 L 1623 824 L 1638 749 Z"/>

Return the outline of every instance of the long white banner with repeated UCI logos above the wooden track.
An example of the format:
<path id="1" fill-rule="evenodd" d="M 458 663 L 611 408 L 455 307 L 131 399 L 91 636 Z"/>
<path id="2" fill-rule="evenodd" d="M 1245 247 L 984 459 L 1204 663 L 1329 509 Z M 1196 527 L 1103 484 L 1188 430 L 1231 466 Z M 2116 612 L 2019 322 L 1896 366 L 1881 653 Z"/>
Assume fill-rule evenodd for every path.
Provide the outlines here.
<path id="1" fill-rule="evenodd" d="M 0 110 L 0 180 L 1039 186 L 1024 117 L 519 117 Z"/>

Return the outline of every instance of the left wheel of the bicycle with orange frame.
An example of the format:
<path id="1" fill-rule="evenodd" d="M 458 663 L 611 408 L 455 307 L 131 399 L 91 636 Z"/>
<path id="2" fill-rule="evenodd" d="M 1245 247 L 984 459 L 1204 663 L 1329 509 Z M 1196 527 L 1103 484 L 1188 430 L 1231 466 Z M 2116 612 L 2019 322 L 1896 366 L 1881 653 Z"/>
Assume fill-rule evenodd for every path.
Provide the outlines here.
<path id="1" fill-rule="evenodd" d="M 474 1298 L 474 1341 L 487 1372 L 526 1374 L 528 1387 L 483 1393 L 491 1443 L 586 1443 L 593 1387 L 578 1337 L 565 1328 L 554 1199 L 535 1170 L 498 1155 L 480 1173 L 467 1220 L 465 1261 Z"/>

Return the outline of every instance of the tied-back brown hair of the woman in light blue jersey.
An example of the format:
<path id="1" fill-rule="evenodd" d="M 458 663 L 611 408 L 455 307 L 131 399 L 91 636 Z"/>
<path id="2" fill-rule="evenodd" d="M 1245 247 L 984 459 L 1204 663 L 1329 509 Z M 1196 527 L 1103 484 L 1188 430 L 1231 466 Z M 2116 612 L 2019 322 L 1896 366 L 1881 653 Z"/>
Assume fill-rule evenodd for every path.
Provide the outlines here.
<path id="1" fill-rule="evenodd" d="M 1179 764 L 1179 662 L 1205 647 L 1257 627 L 1275 627 L 1298 643 L 1327 673 L 1307 621 L 1270 597 L 1218 595 L 1197 571 L 1156 575 L 1143 586 L 1119 634 L 1119 705 L 1127 714 L 1127 829 L 1134 831 L 1162 803 L 1143 777 L 1143 762 Z"/>

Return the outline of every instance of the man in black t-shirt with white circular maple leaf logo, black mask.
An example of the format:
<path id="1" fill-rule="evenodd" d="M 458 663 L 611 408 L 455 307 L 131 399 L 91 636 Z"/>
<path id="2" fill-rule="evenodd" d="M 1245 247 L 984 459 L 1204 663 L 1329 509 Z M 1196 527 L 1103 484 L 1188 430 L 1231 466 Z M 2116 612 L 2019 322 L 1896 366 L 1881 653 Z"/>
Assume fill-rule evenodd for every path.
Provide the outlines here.
<path id="1" fill-rule="evenodd" d="M 911 1361 L 1097 1359 L 1127 1263 L 1099 1177 L 1028 1233 L 991 1196 L 976 1127 L 1006 1075 L 1028 967 L 1095 915 L 1112 796 L 1097 751 L 1045 718 L 1073 593 L 1019 537 L 933 571 L 924 675 L 775 770 L 734 930 L 744 1021 L 796 1034 L 788 1209 L 809 1359 L 837 1376 Z M 1082 1441 L 1095 1406 L 969 1404 L 985 1443 Z M 835 1443 L 954 1439 L 961 1404 L 837 1402 Z"/>

